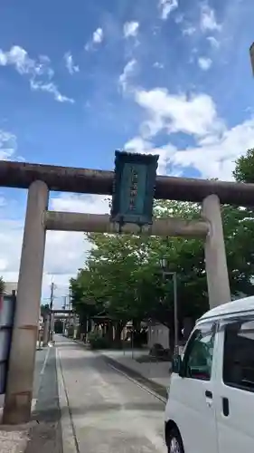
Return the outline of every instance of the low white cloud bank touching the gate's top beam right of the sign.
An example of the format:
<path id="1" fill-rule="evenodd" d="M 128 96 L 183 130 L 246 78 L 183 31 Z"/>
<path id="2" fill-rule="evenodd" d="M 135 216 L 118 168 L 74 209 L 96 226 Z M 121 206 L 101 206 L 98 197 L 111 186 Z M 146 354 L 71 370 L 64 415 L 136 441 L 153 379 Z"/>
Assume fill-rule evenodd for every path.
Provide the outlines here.
<path id="1" fill-rule="evenodd" d="M 170 140 L 170 136 L 169 136 Z M 135 137 L 129 140 L 125 149 L 132 152 L 159 155 L 158 174 L 183 176 L 187 167 L 193 167 L 201 173 L 202 178 L 219 178 L 232 180 L 235 160 L 254 146 L 254 118 L 221 133 L 207 133 L 196 140 L 196 146 L 187 149 L 176 149 L 170 142 L 156 148 L 150 140 Z"/>

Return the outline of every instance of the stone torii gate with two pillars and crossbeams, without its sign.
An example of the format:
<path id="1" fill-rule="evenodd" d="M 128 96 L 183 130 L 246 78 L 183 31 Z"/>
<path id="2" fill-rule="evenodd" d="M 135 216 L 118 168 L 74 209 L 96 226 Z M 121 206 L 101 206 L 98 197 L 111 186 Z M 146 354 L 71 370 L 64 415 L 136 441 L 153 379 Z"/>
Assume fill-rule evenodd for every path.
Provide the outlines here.
<path id="1" fill-rule="evenodd" d="M 108 215 L 53 212 L 49 192 L 111 195 L 114 172 L 73 169 L 20 162 L 0 162 L 0 186 L 27 188 L 24 241 L 20 262 L 13 341 L 7 376 L 4 423 L 29 421 L 33 398 L 33 367 L 42 290 L 46 230 L 117 233 Z M 221 205 L 253 206 L 254 185 L 193 178 L 157 177 L 155 198 L 202 202 L 199 221 L 155 220 L 145 234 L 202 237 L 210 306 L 230 300 L 230 284 L 221 223 Z M 139 234 L 126 225 L 123 233 Z"/>

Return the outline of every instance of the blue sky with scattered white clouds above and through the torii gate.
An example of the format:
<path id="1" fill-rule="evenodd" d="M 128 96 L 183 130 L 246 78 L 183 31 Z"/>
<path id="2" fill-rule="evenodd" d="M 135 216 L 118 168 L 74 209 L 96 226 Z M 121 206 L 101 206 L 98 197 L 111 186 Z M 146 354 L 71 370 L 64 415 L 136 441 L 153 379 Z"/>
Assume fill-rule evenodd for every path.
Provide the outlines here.
<path id="1" fill-rule="evenodd" d="M 254 146 L 253 0 L 2 0 L 0 159 L 113 169 L 115 149 L 159 174 L 232 179 Z M 17 281 L 27 193 L 0 188 L 0 275 Z M 55 210 L 103 197 L 51 193 Z M 42 284 L 61 306 L 89 244 L 49 232 Z"/>

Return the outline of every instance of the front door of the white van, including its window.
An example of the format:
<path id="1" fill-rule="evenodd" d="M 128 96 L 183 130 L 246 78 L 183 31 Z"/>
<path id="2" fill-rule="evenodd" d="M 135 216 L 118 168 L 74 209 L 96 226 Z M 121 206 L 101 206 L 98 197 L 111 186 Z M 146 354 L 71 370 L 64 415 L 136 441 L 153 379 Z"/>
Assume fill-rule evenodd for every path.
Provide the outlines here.
<path id="1" fill-rule="evenodd" d="M 185 453 L 218 452 L 213 405 L 215 349 L 216 324 L 197 325 L 184 352 L 181 376 L 172 374 L 169 411 Z"/>

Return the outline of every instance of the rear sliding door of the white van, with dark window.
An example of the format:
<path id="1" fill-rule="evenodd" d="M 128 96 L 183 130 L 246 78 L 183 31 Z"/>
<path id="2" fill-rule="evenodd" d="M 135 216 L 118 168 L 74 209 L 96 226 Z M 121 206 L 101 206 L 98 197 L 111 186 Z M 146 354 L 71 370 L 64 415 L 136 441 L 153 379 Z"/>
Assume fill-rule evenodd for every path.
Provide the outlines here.
<path id="1" fill-rule="evenodd" d="M 254 451 L 254 317 L 221 323 L 215 408 L 219 452 Z"/>

